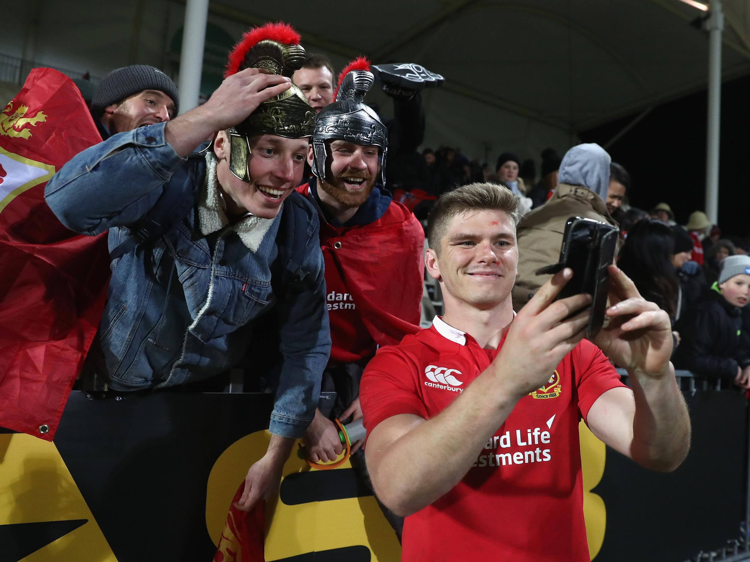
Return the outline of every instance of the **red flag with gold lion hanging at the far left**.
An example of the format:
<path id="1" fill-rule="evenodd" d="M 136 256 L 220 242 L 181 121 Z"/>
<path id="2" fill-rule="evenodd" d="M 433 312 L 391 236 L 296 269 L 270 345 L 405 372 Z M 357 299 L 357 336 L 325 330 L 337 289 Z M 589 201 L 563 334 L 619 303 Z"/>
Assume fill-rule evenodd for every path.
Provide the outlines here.
<path id="1" fill-rule="evenodd" d="M 62 226 L 44 186 L 98 142 L 57 70 L 31 70 L 0 114 L 0 426 L 49 441 L 99 325 L 109 258 L 106 234 Z"/>

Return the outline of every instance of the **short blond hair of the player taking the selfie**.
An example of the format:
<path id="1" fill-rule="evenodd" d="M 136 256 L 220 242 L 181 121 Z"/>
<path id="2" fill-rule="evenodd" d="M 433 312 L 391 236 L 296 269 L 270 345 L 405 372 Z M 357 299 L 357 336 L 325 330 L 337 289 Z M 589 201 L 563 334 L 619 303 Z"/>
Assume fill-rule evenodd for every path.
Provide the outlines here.
<path id="1" fill-rule="evenodd" d="M 518 197 L 507 187 L 498 184 L 468 184 L 449 191 L 437 200 L 427 220 L 430 247 L 440 252 L 440 241 L 446 235 L 448 223 L 466 211 L 503 211 L 518 225 Z"/>

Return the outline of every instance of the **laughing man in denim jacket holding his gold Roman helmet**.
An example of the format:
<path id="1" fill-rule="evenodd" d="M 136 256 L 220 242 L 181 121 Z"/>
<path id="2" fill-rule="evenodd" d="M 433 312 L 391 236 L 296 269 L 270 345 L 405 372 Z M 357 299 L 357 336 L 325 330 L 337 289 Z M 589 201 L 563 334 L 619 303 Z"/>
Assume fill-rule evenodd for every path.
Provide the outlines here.
<path id="1" fill-rule="evenodd" d="M 113 261 L 87 359 L 113 390 L 226 372 L 264 329 L 261 316 L 275 312 L 284 363 L 271 443 L 248 471 L 245 510 L 278 489 L 293 441 L 313 418 L 331 345 L 318 216 L 294 190 L 314 124 L 289 78 L 305 58 L 298 43 L 285 24 L 249 31 L 203 106 L 89 148 L 46 186 L 65 226 L 86 235 L 110 229 L 115 253 L 129 245 Z M 213 151 L 188 158 L 211 134 Z M 184 216 L 157 239 L 135 238 L 151 228 L 162 196 L 187 201 Z"/>

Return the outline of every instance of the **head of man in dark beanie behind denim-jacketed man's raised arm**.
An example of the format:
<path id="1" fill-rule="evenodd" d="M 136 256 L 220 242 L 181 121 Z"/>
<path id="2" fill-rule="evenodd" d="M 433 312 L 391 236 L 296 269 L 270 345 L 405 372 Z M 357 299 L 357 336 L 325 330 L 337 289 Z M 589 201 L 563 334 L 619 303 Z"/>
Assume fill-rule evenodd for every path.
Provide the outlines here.
<path id="1" fill-rule="evenodd" d="M 124 131 L 163 123 L 178 109 L 175 82 L 146 64 L 116 68 L 99 82 L 92 97 L 92 117 L 102 139 Z"/>

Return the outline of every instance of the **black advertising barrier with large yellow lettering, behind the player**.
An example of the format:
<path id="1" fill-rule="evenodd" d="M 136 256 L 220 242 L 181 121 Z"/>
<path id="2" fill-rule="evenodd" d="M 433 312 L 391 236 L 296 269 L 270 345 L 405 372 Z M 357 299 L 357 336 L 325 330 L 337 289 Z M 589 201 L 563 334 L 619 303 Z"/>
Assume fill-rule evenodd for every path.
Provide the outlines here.
<path id="1" fill-rule="evenodd" d="M 604 472 L 591 492 L 603 509 L 587 515 L 605 522 L 586 521 L 604 528 L 595 561 L 681 562 L 736 537 L 747 404 L 734 391 L 685 398 L 693 440 L 677 471 L 645 471 L 609 449 L 597 460 Z M 0 562 L 212 560 L 229 499 L 265 450 L 271 410 L 268 394 L 74 392 L 54 444 L 0 435 L 0 506 L 10 505 Z M 395 536 L 350 470 L 306 471 L 293 455 L 284 475 L 266 560 L 398 561 Z M 553 526 L 543 536 L 554 540 Z"/>

